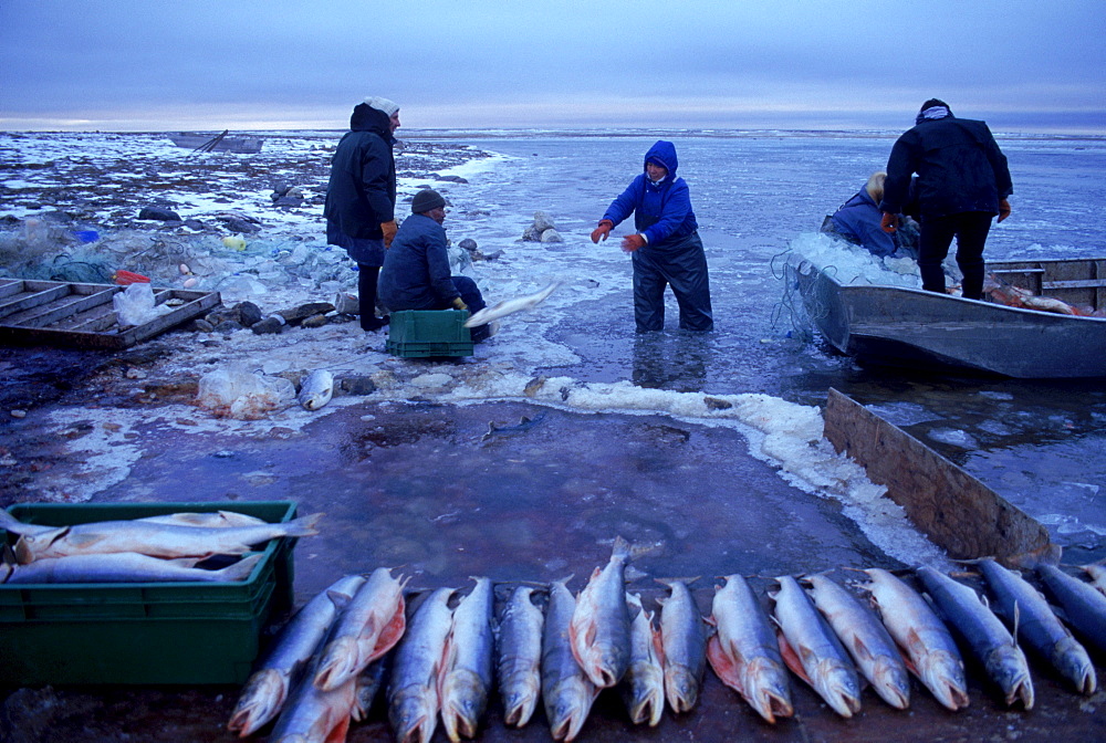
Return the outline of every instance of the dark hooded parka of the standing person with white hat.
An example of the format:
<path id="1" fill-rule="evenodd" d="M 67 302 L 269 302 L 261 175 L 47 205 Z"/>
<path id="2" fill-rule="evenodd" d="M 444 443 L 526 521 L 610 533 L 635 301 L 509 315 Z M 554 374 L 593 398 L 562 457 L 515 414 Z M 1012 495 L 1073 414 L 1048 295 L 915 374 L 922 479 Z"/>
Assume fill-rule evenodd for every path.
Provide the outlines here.
<path id="1" fill-rule="evenodd" d="M 331 160 L 326 187 L 326 241 L 342 244 L 337 233 L 379 239 L 382 222 L 395 219 L 396 159 L 392 154 L 389 117 L 361 103 L 353 109 L 349 132 Z"/>

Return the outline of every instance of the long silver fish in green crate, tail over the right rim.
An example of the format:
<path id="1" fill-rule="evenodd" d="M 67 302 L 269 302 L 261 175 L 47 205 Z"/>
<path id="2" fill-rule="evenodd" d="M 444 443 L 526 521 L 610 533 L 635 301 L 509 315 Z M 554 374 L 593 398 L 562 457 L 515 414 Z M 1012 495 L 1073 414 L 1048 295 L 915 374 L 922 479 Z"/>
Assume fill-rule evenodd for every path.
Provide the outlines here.
<path id="1" fill-rule="evenodd" d="M 148 521 L 98 521 L 23 534 L 15 558 L 31 563 L 46 557 L 137 552 L 152 557 L 243 555 L 253 545 L 281 536 L 312 536 L 323 516 L 315 513 L 293 521 L 257 526 L 204 527 Z"/>

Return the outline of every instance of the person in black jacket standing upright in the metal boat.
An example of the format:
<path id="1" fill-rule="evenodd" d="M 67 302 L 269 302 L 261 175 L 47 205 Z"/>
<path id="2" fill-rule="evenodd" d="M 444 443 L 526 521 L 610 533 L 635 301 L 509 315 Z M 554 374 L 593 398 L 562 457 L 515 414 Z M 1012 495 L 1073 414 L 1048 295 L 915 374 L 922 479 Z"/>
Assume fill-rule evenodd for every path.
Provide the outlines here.
<path id="1" fill-rule="evenodd" d="M 1010 216 L 1013 193 L 1006 157 L 984 122 L 957 118 L 949 104 L 930 98 L 921 104 L 916 125 L 898 138 L 887 160 L 881 224 L 895 232 L 896 214 L 909 198 L 910 177 L 918 174 L 921 234 L 918 269 L 921 287 L 945 292 L 941 261 L 957 239 L 957 265 L 963 273 L 963 296 L 983 299 L 983 244 L 998 214 Z"/>

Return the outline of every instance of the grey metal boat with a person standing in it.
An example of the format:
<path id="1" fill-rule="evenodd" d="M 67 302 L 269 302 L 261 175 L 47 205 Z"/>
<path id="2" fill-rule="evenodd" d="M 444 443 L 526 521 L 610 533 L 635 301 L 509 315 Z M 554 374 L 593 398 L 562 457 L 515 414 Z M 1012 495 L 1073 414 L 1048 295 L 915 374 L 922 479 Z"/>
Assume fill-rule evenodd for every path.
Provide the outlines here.
<path id="1" fill-rule="evenodd" d="M 1106 308 L 1106 259 L 988 262 L 987 271 L 1032 296 Z M 1021 379 L 1106 377 L 1106 317 L 842 284 L 800 258 L 789 261 L 787 280 L 826 341 L 864 365 Z"/>

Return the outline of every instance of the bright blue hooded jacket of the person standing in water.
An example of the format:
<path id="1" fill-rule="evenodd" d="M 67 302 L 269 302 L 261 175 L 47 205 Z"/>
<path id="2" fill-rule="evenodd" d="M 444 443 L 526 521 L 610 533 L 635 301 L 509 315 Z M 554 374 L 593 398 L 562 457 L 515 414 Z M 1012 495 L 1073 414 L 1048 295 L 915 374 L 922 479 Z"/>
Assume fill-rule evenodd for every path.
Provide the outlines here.
<path id="1" fill-rule="evenodd" d="M 660 184 L 654 185 L 649 176 L 643 172 L 630 181 L 626 190 L 611 202 L 603 219 L 609 219 L 618 226 L 624 219 L 634 214 L 635 229 L 645 236 L 649 247 L 658 248 L 671 240 L 678 242 L 695 232 L 699 224 L 691 210 L 691 195 L 682 178 L 676 177 L 679 160 L 676 157 L 676 145 L 660 140 L 645 155 L 645 163 L 653 160 L 668 168 L 668 175 Z"/>

